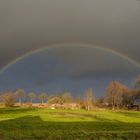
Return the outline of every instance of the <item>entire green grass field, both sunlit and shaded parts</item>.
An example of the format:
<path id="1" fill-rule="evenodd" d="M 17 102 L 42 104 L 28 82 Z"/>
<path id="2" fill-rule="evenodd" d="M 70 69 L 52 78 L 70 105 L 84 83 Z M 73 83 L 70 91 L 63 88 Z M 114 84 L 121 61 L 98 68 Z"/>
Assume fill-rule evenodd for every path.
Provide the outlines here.
<path id="1" fill-rule="evenodd" d="M 0 140 L 139 140 L 140 112 L 0 108 Z"/>

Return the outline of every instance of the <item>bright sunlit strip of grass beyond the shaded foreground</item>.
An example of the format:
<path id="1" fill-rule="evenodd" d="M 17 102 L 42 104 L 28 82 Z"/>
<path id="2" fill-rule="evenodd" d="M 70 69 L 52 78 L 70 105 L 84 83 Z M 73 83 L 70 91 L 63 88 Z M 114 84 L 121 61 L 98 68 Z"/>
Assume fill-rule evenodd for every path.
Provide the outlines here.
<path id="1" fill-rule="evenodd" d="M 40 116 L 43 121 L 98 121 L 98 119 L 119 122 L 140 123 L 138 111 L 85 111 L 51 109 L 0 109 L 0 120 L 15 119 L 24 116 Z M 97 119 L 98 118 L 98 119 Z"/>

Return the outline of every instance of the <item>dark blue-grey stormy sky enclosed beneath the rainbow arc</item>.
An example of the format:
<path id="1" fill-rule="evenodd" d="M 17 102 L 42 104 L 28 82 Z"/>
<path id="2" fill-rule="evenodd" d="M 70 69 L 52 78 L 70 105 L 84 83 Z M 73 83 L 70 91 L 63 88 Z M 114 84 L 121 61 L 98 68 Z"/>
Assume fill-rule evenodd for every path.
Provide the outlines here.
<path id="1" fill-rule="evenodd" d="M 18 61 L 0 75 L 0 91 L 82 94 L 92 87 L 100 95 L 111 80 L 127 86 L 138 75 L 132 63 L 100 49 L 86 47 L 49 48 Z"/>

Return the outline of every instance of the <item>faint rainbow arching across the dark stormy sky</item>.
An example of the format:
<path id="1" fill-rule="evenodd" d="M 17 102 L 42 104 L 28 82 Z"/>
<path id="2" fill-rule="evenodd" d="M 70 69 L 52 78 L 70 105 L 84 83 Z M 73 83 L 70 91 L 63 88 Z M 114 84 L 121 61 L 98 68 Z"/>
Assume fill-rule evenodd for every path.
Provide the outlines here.
<path id="1" fill-rule="evenodd" d="M 18 57 L 17 59 L 13 60 L 12 62 L 8 63 L 6 66 L 4 66 L 0 70 L 0 74 L 2 74 L 5 70 L 10 68 L 12 65 L 16 64 L 18 61 L 20 61 L 20 60 L 22 60 L 22 59 L 24 59 L 24 58 L 26 58 L 30 55 L 33 55 L 35 53 L 41 52 L 41 51 L 46 50 L 46 49 L 52 49 L 52 48 L 57 48 L 57 47 L 70 47 L 70 46 L 88 47 L 88 48 L 98 49 L 98 50 L 101 50 L 101 51 L 104 51 L 104 52 L 107 52 L 107 53 L 111 53 L 113 55 L 116 55 L 116 56 L 130 62 L 131 64 L 135 65 L 136 67 L 140 68 L 140 63 L 138 63 L 136 60 L 134 60 L 134 59 L 118 52 L 118 51 L 115 51 L 115 50 L 112 50 L 112 49 L 109 49 L 109 48 L 106 48 L 106 47 L 94 46 L 94 45 L 90 45 L 90 44 L 69 43 L 69 44 L 49 45 L 47 47 L 42 47 L 42 48 L 36 49 L 34 51 L 28 52 L 28 53 Z"/>

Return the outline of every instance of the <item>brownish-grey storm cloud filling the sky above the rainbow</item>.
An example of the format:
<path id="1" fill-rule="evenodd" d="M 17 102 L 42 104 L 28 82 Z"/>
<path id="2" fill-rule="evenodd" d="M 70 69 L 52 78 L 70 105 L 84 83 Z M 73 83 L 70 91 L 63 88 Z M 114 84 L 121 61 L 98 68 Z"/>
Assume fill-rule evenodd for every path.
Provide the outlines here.
<path id="1" fill-rule="evenodd" d="M 59 43 L 105 46 L 140 62 L 137 0 L 0 1 L 0 67 Z"/>

